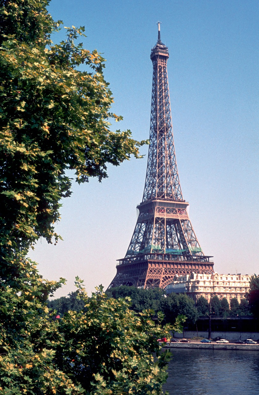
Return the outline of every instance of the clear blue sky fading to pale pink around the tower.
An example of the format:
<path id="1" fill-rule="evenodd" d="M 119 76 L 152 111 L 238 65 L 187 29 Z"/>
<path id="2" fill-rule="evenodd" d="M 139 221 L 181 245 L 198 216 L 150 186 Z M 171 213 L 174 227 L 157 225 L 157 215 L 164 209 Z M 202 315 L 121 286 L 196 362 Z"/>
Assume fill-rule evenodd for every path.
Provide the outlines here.
<path id="1" fill-rule="evenodd" d="M 161 21 L 176 159 L 193 229 L 215 271 L 258 274 L 259 2 L 53 0 L 49 11 L 64 26 L 85 26 L 84 47 L 107 59 L 112 111 L 124 117 L 116 128 L 139 140 L 149 137 L 150 49 Z M 44 278 L 67 279 L 56 297 L 75 290 L 76 275 L 91 293 L 116 274 L 143 196 L 148 149 L 141 151 L 144 159 L 109 167 L 101 184 L 73 184 L 56 226 L 64 241 L 42 240 L 30 253 Z"/>

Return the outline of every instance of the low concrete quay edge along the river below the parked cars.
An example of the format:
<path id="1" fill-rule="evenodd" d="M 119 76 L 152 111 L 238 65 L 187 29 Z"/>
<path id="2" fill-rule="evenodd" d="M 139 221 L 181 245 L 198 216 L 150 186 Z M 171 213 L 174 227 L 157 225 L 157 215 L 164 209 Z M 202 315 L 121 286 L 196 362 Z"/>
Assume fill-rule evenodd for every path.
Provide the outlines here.
<path id="1" fill-rule="evenodd" d="M 246 350 L 259 351 L 259 344 L 218 344 L 218 343 L 171 343 L 165 345 L 165 348 L 201 348 L 208 350 Z"/>

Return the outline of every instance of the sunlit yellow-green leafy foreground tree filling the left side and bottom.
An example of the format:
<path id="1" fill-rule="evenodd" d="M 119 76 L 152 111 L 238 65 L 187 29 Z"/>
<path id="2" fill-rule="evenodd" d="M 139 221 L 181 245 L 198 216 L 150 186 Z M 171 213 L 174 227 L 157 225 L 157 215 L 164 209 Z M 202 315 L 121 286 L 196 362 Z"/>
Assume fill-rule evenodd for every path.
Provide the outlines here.
<path id="1" fill-rule="evenodd" d="M 83 310 L 54 320 L 47 299 L 64 279 L 43 280 L 26 257 L 39 237 L 58 240 L 67 169 L 79 183 L 101 181 L 108 163 L 139 157 L 144 143 L 111 132 L 109 119 L 121 117 L 110 112 L 104 59 L 75 44 L 83 28 L 54 45 L 60 23 L 48 4 L 0 0 L 0 394 L 160 394 L 168 355 L 150 312 L 101 289 L 88 298 L 77 280 Z"/>

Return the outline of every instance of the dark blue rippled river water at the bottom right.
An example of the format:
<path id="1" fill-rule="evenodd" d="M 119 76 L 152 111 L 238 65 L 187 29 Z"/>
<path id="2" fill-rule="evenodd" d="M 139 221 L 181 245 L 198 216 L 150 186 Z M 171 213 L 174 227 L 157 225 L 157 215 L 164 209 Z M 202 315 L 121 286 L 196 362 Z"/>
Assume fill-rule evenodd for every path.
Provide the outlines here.
<path id="1" fill-rule="evenodd" d="M 259 395 L 259 352 L 171 349 L 170 395 Z"/>

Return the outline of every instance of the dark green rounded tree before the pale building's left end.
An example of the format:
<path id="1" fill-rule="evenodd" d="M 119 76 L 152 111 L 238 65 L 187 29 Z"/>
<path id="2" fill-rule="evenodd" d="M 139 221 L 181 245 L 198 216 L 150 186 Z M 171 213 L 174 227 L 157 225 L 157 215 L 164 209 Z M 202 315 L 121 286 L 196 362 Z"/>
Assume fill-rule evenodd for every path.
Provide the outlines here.
<path id="1" fill-rule="evenodd" d="M 163 313 L 165 322 L 175 322 L 176 317 L 180 314 L 186 316 L 186 324 L 194 324 L 197 321 L 198 314 L 194 301 L 186 293 L 169 293 L 163 301 Z"/>

